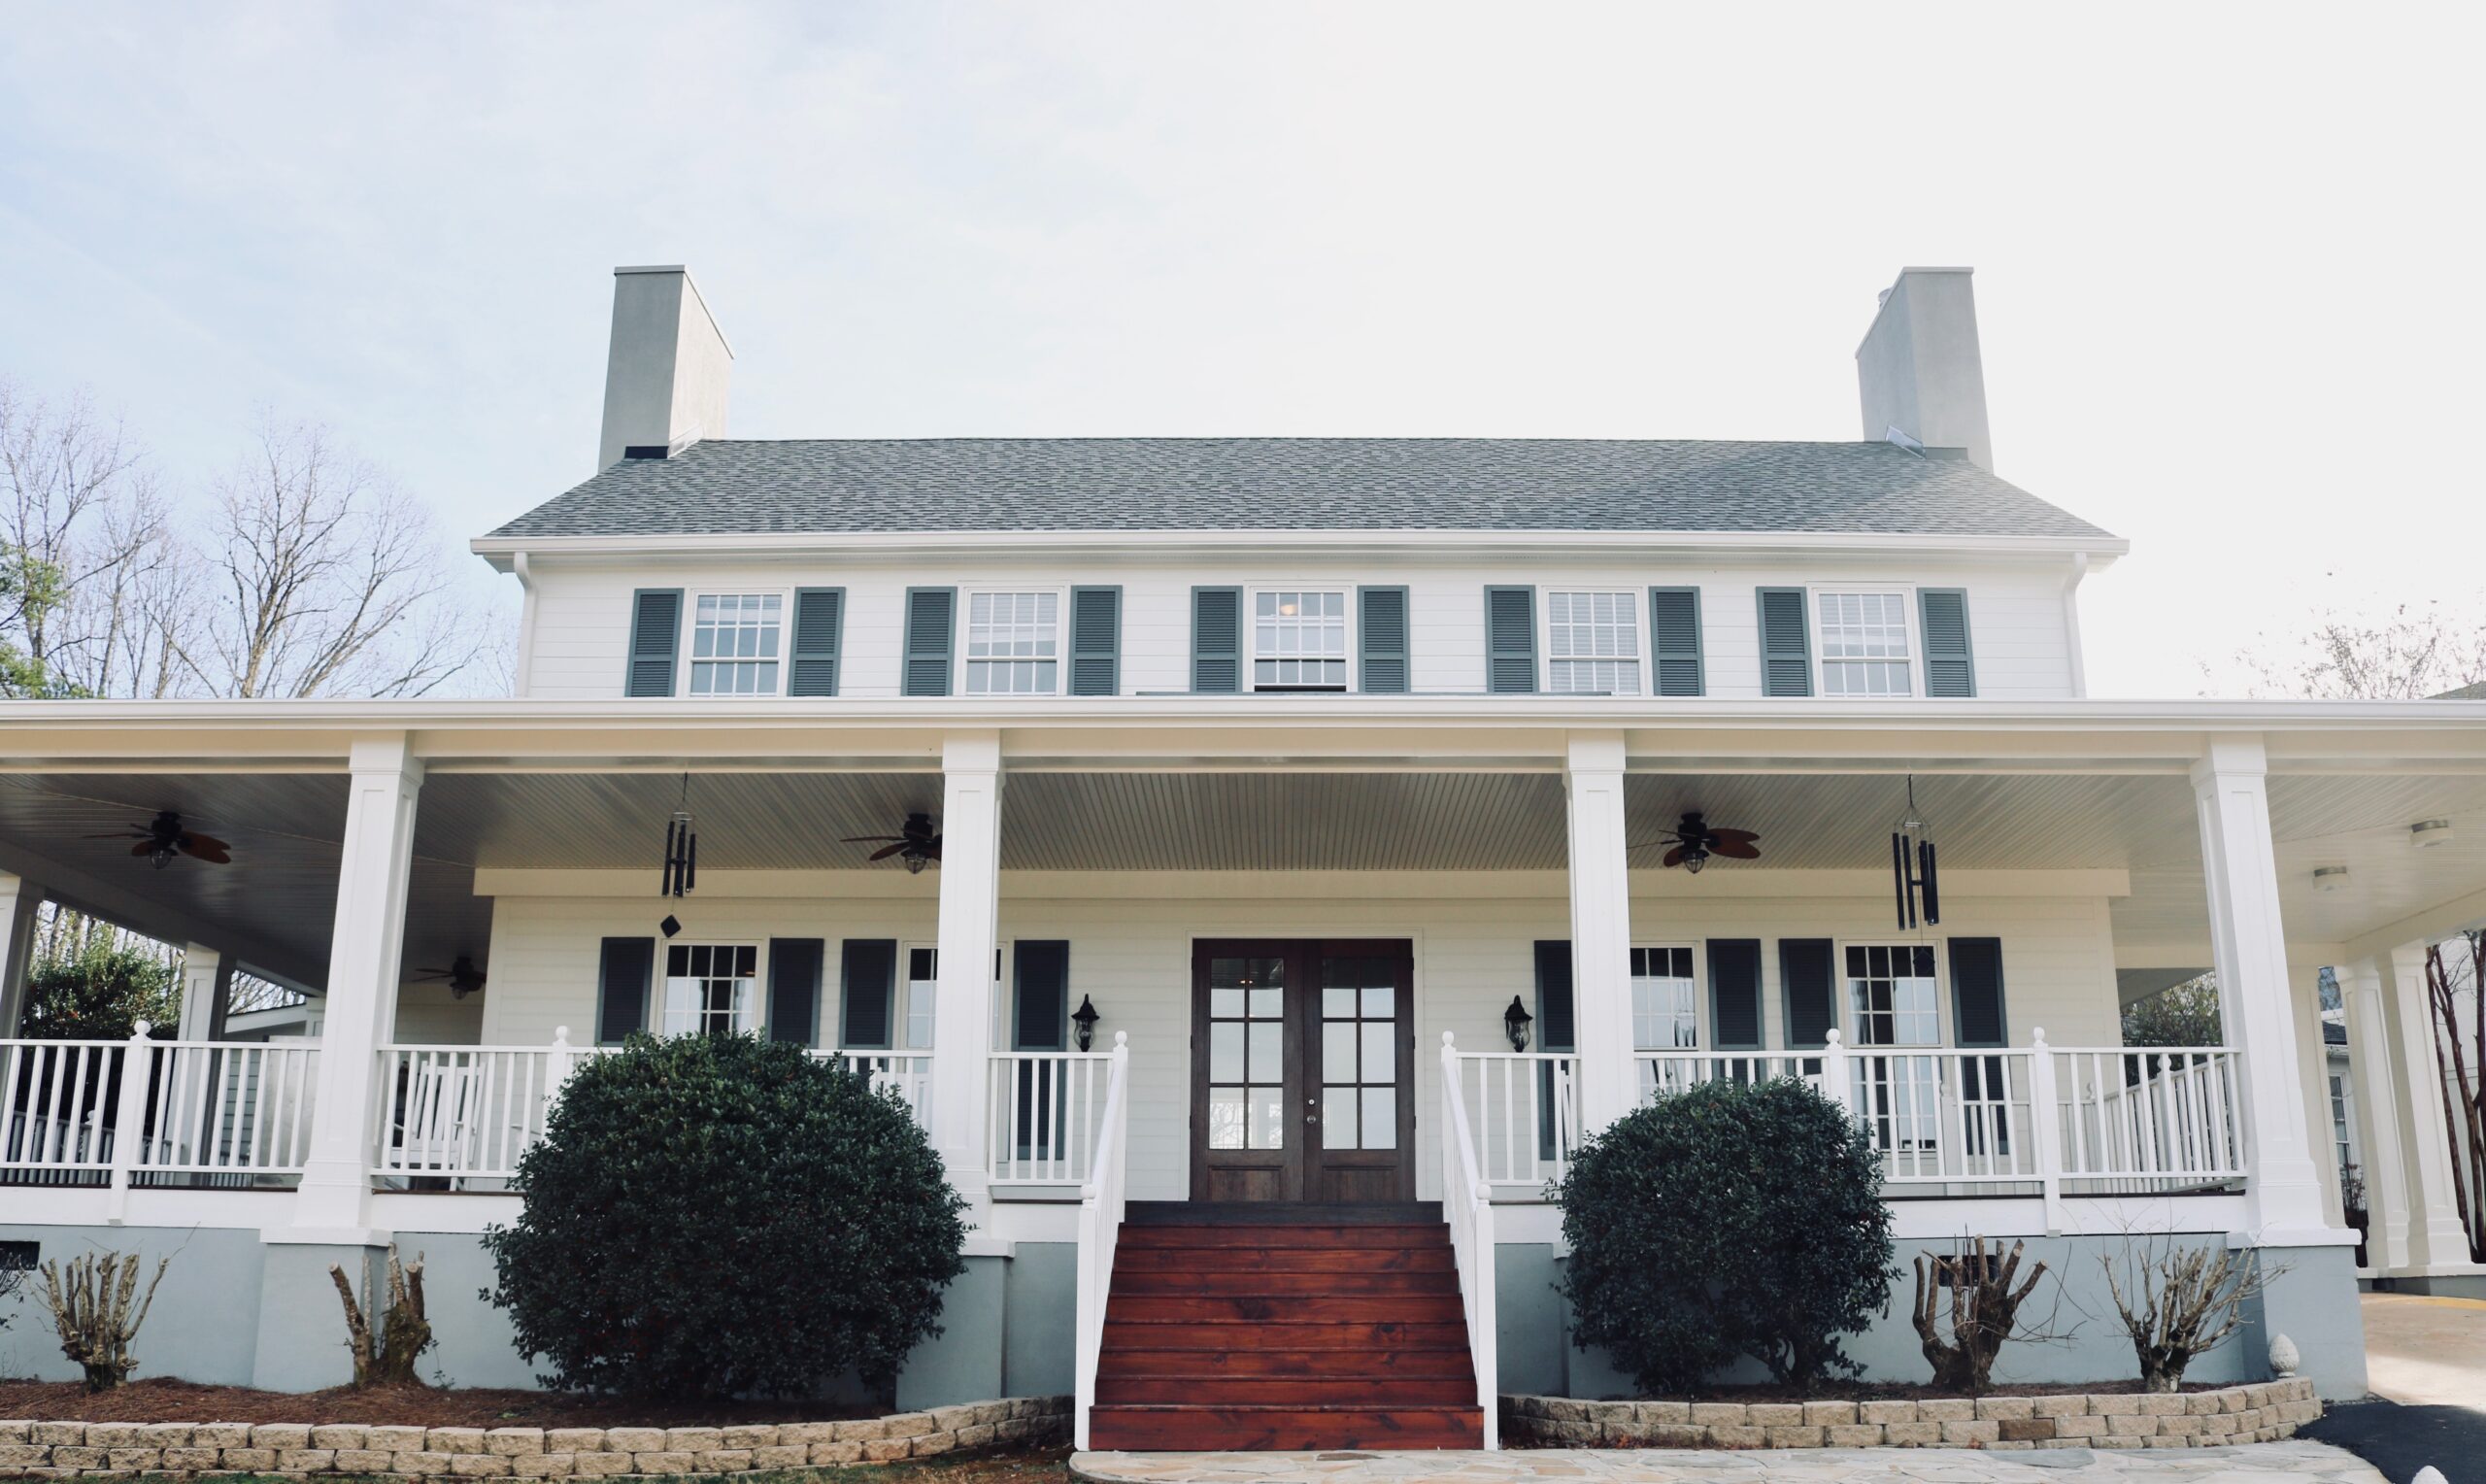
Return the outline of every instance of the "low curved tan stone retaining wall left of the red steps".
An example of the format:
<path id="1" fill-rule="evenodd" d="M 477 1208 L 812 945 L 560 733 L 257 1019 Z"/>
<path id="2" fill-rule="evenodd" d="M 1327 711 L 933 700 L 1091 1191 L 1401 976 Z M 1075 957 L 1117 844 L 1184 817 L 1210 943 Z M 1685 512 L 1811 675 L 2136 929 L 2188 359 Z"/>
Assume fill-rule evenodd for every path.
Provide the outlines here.
<path id="1" fill-rule="evenodd" d="M 1012 1397 L 860 1422 L 743 1427 L 351 1427 L 308 1422 L 0 1422 L 0 1477 L 400 1474 L 574 1479 L 883 1464 L 1071 1437 L 1069 1397 Z"/>

